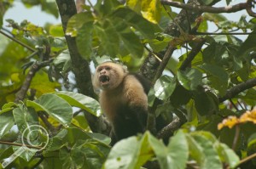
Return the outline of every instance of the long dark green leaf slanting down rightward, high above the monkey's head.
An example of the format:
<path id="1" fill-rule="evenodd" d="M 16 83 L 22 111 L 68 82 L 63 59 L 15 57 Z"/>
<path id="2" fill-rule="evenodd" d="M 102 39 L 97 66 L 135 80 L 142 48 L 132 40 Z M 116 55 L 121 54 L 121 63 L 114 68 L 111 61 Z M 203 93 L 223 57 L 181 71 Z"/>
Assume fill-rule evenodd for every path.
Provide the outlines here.
<path id="1" fill-rule="evenodd" d="M 137 14 L 130 8 L 119 7 L 113 12 L 113 17 L 118 17 L 128 25 L 133 26 L 137 31 L 148 39 L 154 38 L 154 32 L 159 31 L 159 28 L 148 20 L 144 19 L 143 16 Z"/>

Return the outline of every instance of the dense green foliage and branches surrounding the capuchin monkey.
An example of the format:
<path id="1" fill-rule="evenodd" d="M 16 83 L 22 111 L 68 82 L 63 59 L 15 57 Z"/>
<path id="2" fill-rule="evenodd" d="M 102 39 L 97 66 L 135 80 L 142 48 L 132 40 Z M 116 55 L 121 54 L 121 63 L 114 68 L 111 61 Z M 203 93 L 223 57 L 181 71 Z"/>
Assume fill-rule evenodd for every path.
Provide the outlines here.
<path id="1" fill-rule="evenodd" d="M 14 1 L 0 0 L 0 167 L 256 167 L 254 1 L 21 2 L 62 25 L 14 18 L 8 31 Z M 238 21 L 222 14 L 243 9 Z M 148 131 L 113 147 L 91 85 L 93 66 L 110 59 L 153 84 Z M 155 115 L 167 122 L 159 132 Z"/>

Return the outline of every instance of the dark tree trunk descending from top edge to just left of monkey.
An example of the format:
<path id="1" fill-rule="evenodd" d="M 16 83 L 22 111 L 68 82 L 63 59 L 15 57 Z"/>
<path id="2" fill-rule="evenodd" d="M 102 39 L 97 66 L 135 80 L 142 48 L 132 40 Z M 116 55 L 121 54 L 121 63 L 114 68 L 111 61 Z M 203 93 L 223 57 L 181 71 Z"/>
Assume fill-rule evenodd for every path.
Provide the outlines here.
<path id="1" fill-rule="evenodd" d="M 76 5 L 73 0 L 56 0 L 56 3 L 61 15 L 63 31 L 66 35 L 68 20 L 74 14 L 77 14 Z M 79 54 L 75 38 L 67 35 L 65 37 L 73 65 L 73 73 L 76 78 L 77 87 L 79 88 L 79 93 L 83 93 L 92 98 L 96 98 L 96 94 L 94 93 L 91 83 L 89 63 L 87 62 L 87 60 L 83 59 Z M 98 118 L 95 115 L 91 115 L 88 112 L 84 112 L 84 116 L 86 117 L 86 120 L 88 121 L 92 132 L 106 133 L 106 135 L 108 134 L 110 126 L 104 126 L 104 124 L 106 123 L 102 122 L 104 121 L 102 116 Z"/>

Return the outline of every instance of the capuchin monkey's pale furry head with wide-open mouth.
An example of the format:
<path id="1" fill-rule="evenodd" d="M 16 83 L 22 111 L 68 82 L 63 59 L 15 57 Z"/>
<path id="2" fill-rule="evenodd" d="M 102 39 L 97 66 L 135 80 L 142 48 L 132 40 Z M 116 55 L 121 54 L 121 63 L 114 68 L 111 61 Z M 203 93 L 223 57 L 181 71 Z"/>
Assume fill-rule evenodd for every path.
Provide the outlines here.
<path id="1" fill-rule="evenodd" d="M 105 63 L 96 68 L 95 85 L 102 90 L 112 90 L 119 87 L 125 76 L 124 69 L 114 63 Z"/>

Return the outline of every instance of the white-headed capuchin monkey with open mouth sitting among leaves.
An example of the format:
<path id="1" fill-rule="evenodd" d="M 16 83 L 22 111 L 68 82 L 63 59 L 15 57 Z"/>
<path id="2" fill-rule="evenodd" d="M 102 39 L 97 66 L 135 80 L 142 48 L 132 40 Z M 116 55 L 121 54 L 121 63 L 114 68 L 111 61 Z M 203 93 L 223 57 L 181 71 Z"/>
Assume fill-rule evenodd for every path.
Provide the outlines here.
<path id="1" fill-rule="evenodd" d="M 100 88 L 103 113 L 113 127 L 113 142 L 144 132 L 148 117 L 150 82 L 128 73 L 122 65 L 105 62 L 96 67 L 94 87 Z"/>

